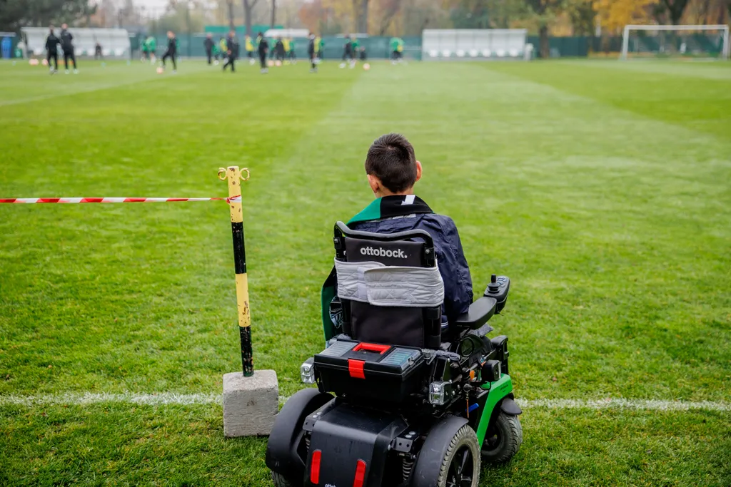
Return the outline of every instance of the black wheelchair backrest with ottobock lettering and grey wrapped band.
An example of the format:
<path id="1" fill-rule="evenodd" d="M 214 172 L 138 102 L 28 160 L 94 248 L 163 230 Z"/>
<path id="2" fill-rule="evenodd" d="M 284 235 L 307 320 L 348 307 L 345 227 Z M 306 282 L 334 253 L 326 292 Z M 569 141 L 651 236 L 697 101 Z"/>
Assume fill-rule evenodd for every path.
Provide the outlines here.
<path id="1" fill-rule="evenodd" d="M 363 342 L 438 348 L 444 283 L 423 230 L 376 234 L 335 226 L 343 330 Z"/>

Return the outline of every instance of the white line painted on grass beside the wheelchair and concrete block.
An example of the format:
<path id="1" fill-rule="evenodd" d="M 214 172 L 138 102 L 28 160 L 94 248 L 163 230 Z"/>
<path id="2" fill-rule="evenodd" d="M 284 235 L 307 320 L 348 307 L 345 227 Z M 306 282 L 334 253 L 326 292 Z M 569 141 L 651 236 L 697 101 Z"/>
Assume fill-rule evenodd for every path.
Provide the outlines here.
<path id="1" fill-rule="evenodd" d="M 284 404 L 289 396 L 280 396 L 279 404 Z M 67 393 L 45 394 L 40 396 L 0 396 L 0 405 L 15 404 L 32 406 L 34 404 L 51 405 L 87 405 L 123 403 L 140 405 L 165 404 L 221 404 L 221 394 L 178 394 L 161 392 L 159 394 L 135 393 Z M 583 409 L 583 410 L 648 410 L 648 411 L 731 411 L 731 402 L 714 401 L 664 401 L 660 399 L 518 399 L 520 407 L 526 409 Z"/>

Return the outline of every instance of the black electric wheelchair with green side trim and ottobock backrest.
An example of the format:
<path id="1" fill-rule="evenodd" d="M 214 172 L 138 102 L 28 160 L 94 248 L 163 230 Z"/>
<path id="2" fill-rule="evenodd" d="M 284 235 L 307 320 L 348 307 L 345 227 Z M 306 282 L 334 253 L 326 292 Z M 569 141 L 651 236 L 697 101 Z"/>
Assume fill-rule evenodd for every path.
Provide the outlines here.
<path id="1" fill-rule="evenodd" d="M 276 417 L 266 464 L 277 487 L 477 487 L 481 461 L 509 461 L 522 413 L 507 337 L 489 339 L 510 280 L 491 283 L 442 326 L 433 240 L 335 226 L 337 297 L 323 312 L 327 348 Z M 441 287 L 440 287 L 441 286 Z M 441 293 L 441 294 L 440 294 Z M 325 323 L 325 321 L 324 321 Z"/>

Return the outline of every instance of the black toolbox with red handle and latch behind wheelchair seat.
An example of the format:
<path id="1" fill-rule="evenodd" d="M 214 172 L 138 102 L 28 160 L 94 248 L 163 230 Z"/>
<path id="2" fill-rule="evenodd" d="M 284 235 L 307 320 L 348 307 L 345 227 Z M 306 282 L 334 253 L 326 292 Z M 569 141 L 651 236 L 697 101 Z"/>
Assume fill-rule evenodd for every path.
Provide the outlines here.
<path id="1" fill-rule="evenodd" d="M 401 402 L 416 392 L 425 358 L 419 348 L 338 340 L 314 356 L 321 390 Z"/>

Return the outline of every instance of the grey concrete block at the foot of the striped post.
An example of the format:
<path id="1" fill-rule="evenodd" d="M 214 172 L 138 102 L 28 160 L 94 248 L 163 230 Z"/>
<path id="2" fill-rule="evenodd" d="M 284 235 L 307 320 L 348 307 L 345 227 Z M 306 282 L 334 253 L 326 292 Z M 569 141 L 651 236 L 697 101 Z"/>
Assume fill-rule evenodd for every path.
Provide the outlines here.
<path id="1" fill-rule="evenodd" d="M 279 413 L 276 372 L 257 370 L 251 377 L 241 372 L 224 374 L 224 436 L 269 434 Z"/>

